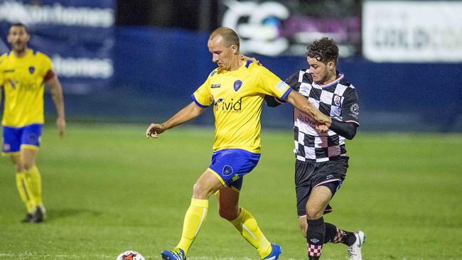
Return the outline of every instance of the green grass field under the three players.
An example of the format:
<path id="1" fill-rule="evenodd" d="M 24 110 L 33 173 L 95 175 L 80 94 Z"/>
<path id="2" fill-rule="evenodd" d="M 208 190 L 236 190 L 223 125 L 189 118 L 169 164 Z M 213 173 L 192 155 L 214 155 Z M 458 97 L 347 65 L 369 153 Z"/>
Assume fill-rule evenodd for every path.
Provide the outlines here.
<path id="1" fill-rule="evenodd" d="M 65 139 L 45 128 L 38 167 L 48 220 L 21 224 L 25 212 L 14 168 L 0 159 L 0 259 L 115 259 L 133 249 L 159 259 L 181 236 L 193 183 L 210 163 L 213 131 L 180 126 L 146 140 L 145 126 L 70 124 Z M 262 159 L 246 176 L 240 204 L 281 259 L 306 259 L 295 209 L 291 131 L 263 131 Z M 347 144 L 350 168 L 325 220 L 362 229 L 364 259 L 462 259 L 462 135 L 371 134 Z M 327 244 L 323 259 L 347 259 Z M 188 255 L 258 259 L 217 214 Z"/>

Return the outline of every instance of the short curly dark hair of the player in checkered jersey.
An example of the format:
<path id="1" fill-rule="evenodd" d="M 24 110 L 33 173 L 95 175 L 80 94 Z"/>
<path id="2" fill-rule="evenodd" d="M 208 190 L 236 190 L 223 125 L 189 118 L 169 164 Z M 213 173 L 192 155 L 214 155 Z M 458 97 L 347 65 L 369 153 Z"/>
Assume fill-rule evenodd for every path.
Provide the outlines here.
<path id="1" fill-rule="evenodd" d="M 338 47 L 333 39 L 326 37 L 321 38 L 321 40 L 316 39 L 306 48 L 306 56 L 316 58 L 316 60 L 324 64 L 330 61 L 337 64 Z"/>

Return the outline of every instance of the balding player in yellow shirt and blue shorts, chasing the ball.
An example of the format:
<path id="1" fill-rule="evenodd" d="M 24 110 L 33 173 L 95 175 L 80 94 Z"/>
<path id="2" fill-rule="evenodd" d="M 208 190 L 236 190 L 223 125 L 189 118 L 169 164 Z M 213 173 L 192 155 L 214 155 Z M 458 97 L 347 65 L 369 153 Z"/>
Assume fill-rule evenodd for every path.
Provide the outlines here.
<path id="1" fill-rule="evenodd" d="M 257 249 L 260 259 L 279 259 L 281 254 L 281 247 L 270 243 L 252 214 L 240 207 L 242 178 L 259 161 L 260 114 L 265 94 L 285 99 L 307 114 L 316 112 L 316 109 L 267 68 L 251 60 L 241 60 L 239 46 L 239 36 L 232 29 L 213 31 L 208 49 L 217 69 L 191 95 L 193 102 L 162 124 L 153 123 L 146 130 L 147 137 L 157 137 L 167 129 L 198 117 L 206 107 L 213 107 L 215 141 L 212 163 L 193 187 L 180 242 L 173 250 L 162 251 L 162 259 L 186 259 L 207 216 L 208 198 L 214 193 L 217 193 L 220 216 L 230 221 Z"/>

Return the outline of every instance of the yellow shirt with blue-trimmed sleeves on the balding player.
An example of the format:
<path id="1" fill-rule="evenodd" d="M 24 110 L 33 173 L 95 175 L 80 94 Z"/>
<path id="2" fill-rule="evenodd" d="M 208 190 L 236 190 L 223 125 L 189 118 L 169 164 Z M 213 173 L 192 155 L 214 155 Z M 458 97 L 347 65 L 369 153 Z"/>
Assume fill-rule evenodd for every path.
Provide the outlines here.
<path id="1" fill-rule="evenodd" d="M 213 151 L 241 148 L 260 153 L 264 95 L 284 98 L 290 91 L 289 85 L 266 67 L 247 61 L 238 70 L 214 70 L 192 97 L 200 107 L 213 104 Z"/>

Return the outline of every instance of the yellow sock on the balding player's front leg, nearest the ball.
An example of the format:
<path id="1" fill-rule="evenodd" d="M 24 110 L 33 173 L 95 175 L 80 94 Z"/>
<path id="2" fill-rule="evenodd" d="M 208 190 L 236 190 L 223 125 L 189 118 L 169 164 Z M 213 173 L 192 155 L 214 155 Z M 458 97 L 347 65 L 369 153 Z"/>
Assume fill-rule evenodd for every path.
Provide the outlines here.
<path id="1" fill-rule="evenodd" d="M 200 227 L 205 222 L 208 212 L 208 200 L 197 200 L 191 198 L 191 204 L 186 211 L 185 220 L 183 223 L 183 234 L 181 240 L 176 247 L 183 249 L 185 255 L 193 244 Z"/>

